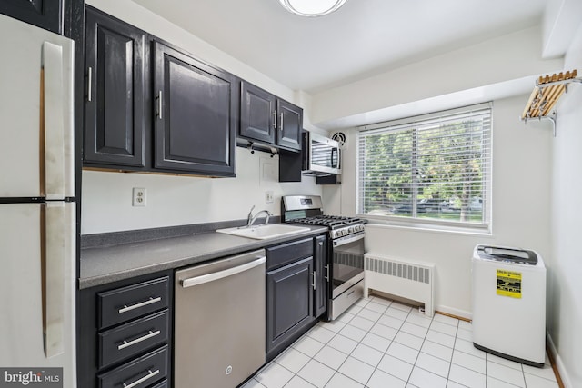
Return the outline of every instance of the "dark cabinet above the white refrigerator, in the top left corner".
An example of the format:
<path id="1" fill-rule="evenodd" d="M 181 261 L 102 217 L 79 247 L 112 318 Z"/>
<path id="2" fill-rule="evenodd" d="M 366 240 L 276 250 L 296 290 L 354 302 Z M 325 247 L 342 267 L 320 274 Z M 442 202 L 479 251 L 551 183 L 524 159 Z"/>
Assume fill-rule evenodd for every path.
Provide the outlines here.
<path id="1" fill-rule="evenodd" d="M 2 0 L 0 13 L 56 34 L 63 32 L 63 0 Z"/>

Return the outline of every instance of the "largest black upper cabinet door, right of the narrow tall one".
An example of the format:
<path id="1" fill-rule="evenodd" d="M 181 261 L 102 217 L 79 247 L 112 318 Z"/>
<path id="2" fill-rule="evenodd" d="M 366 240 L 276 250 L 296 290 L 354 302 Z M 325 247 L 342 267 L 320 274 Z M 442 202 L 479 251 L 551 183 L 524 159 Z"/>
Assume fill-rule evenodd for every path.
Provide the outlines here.
<path id="1" fill-rule="evenodd" d="M 236 77 L 155 43 L 155 167 L 235 176 Z"/>

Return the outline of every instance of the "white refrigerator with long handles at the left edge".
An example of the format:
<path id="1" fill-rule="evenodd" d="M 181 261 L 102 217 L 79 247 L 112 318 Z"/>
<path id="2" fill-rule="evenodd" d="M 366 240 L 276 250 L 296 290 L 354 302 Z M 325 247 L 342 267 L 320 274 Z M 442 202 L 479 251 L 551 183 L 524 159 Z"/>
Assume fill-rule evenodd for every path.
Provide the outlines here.
<path id="1" fill-rule="evenodd" d="M 74 42 L 0 15 L 0 52 L 0 386 L 73 388 Z"/>

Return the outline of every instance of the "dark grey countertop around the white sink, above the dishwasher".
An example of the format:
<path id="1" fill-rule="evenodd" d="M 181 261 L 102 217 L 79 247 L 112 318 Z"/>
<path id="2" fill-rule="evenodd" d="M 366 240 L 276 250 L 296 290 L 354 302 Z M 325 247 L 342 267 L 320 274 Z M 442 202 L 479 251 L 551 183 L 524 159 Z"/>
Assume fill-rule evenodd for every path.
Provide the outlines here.
<path id="1" fill-rule="evenodd" d="M 81 250 L 79 288 L 202 263 L 302 237 L 324 234 L 327 231 L 327 228 L 322 226 L 309 228 L 309 231 L 300 234 L 266 240 L 205 232 L 127 244 L 87 247 Z"/>

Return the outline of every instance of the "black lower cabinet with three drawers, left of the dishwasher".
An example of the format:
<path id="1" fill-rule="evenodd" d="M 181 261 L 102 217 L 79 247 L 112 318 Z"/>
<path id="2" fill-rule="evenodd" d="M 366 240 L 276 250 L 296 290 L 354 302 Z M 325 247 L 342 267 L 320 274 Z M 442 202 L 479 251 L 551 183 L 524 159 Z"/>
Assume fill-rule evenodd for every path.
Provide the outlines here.
<path id="1" fill-rule="evenodd" d="M 81 290 L 77 386 L 170 387 L 173 272 Z"/>

